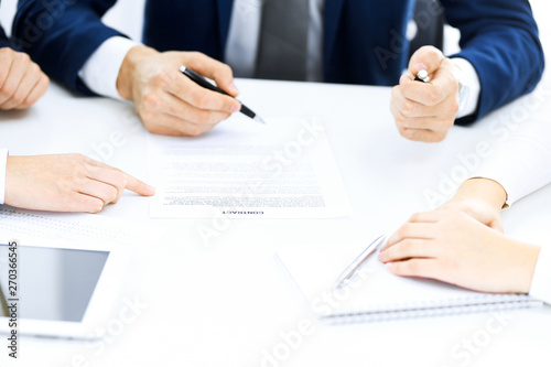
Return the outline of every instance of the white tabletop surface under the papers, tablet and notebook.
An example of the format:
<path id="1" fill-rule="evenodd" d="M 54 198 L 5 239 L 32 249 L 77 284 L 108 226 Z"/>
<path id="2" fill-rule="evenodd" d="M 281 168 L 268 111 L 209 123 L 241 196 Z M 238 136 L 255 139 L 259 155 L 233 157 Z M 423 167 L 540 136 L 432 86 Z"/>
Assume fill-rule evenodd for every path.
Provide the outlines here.
<path id="1" fill-rule="evenodd" d="M 23 337 L 21 358 L 13 363 L 1 352 L 2 366 L 452 367 L 549 363 L 548 306 L 508 312 L 501 327 L 498 316 L 490 313 L 328 326 L 315 321 L 274 256 L 278 246 L 365 242 L 397 227 L 412 213 L 429 209 L 426 191 L 437 192 L 443 176 L 461 172 L 460 155 L 499 138 L 496 121 L 507 119 L 514 128 L 517 121 L 511 116 L 530 110 L 525 106 L 533 96 L 473 127 L 455 127 L 442 143 L 425 144 L 398 134 L 389 111 L 390 88 L 245 79 L 237 84 L 241 100 L 264 118 L 323 118 L 353 217 L 235 219 L 205 246 L 197 228 L 212 226 L 212 219 L 149 218 L 148 199 L 127 192 L 119 204 L 99 215 L 152 223 L 168 231 L 158 244 L 137 250 L 139 256 L 119 304 L 106 306 L 112 307 L 114 320 L 125 300 L 138 298 L 147 307 L 133 322 L 109 334 L 102 349 L 77 341 Z M 112 152 L 104 150 L 106 162 L 147 180 L 148 132 L 129 104 L 74 97 L 52 85 L 31 110 L 0 114 L 0 147 L 8 147 L 13 155 L 97 155 L 94 147 L 108 142 L 114 132 L 122 134 L 125 143 Z M 507 211 L 507 233 L 545 244 L 551 235 L 550 199 L 548 186 Z M 296 331 L 304 320 L 313 322 L 313 333 L 285 349 L 282 333 Z M 471 352 L 462 344 L 468 341 L 474 341 Z M 273 355 L 274 349 L 281 360 L 263 360 L 266 353 Z M 289 355 L 284 355 L 287 350 Z"/>

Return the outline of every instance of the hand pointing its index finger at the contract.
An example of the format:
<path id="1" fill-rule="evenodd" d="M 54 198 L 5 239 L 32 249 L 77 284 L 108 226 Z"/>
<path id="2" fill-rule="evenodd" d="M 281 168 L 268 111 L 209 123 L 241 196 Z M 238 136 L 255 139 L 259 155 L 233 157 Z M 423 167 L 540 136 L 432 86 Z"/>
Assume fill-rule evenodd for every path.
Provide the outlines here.
<path id="1" fill-rule="evenodd" d="M 80 154 L 8 156 L 6 204 L 15 207 L 98 213 L 125 188 L 154 195 L 143 182 Z"/>

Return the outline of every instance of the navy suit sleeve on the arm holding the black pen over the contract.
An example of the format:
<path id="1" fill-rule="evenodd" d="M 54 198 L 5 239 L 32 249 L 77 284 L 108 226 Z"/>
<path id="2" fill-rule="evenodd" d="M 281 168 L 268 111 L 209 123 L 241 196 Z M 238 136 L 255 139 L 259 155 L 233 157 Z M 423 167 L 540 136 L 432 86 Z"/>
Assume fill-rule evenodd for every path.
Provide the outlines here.
<path id="1" fill-rule="evenodd" d="M 107 39 L 122 35 L 101 22 L 116 0 L 20 0 L 13 42 L 52 78 L 72 90 L 94 95 L 78 77 Z"/>

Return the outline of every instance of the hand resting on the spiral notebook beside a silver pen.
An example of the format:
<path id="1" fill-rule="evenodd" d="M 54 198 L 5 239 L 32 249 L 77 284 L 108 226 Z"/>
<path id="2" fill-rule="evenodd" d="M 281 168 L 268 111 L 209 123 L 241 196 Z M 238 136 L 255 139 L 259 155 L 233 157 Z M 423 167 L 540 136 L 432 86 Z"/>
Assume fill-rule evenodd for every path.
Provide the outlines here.
<path id="1" fill-rule="evenodd" d="M 455 211 L 414 214 L 382 247 L 397 276 L 437 279 L 483 292 L 528 293 L 540 248 Z"/>

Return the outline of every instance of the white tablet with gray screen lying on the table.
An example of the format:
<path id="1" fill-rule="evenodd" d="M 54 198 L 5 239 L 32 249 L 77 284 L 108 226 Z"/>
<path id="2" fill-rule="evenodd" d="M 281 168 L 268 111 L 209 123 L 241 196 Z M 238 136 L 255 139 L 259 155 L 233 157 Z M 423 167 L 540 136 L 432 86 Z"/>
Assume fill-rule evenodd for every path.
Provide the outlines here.
<path id="1" fill-rule="evenodd" d="M 129 252 L 108 244 L 0 244 L 0 333 L 101 337 Z"/>

